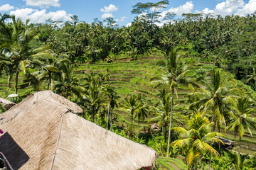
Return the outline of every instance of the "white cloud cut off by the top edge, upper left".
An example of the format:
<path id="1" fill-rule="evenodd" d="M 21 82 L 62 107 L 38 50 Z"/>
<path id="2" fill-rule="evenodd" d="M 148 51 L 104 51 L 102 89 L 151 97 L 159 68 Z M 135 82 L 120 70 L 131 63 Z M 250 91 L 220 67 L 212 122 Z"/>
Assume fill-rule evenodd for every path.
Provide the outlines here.
<path id="1" fill-rule="evenodd" d="M 23 0 L 23 1 L 26 1 L 27 6 L 60 7 L 59 0 Z"/>

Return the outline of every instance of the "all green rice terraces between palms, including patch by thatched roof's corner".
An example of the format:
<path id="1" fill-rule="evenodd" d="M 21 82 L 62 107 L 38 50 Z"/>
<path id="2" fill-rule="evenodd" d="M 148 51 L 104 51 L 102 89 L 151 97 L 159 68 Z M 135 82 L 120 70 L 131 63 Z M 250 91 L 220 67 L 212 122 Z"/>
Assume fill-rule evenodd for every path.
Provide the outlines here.
<path id="1" fill-rule="evenodd" d="M 156 56 L 156 57 L 154 57 Z M 161 75 L 159 67 L 156 67 L 156 63 L 165 60 L 158 52 L 147 55 L 146 57 L 139 57 L 138 60 L 129 60 L 129 58 L 115 60 L 112 63 L 99 62 L 97 64 L 77 64 L 77 69 L 74 72 L 74 76 L 78 79 L 83 79 L 89 72 L 95 72 L 102 75 L 107 69 L 110 70 L 110 77 L 105 81 L 105 84 L 111 84 L 116 88 L 117 94 L 121 99 L 126 98 L 131 94 L 143 94 L 149 106 L 156 106 L 159 102 L 159 91 L 154 89 L 150 79 Z M 196 70 L 203 69 L 205 72 L 210 72 L 210 69 L 216 68 L 213 63 L 196 62 L 193 64 L 193 69 L 188 74 L 188 77 L 195 77 Z M 15 77 L 14 77 L 15 79 Z M 23 84 L 25 78 L 20 75 L 18 77 L 18 85 Z M 256 100 L 256 92 L 252 91 L 250 86 L 242 84 L 241 81 L 237 81 L 238 86 L 245 94 L 249 95 L 253 100 Z M 6 98 L 9 94 L 14 94 L 14 82 L 11 82 L 11 89 L 7 85 L 7 77 L 2 76 L 0 79 L 0 97 Z M 46 84 L 44 84 L 46 86 Z M 168 86 L 166 86 L 168 88 Z M 18 89 L 18 94 L 23 98 L 33 92 L 31 87 L 25 89 Z M 188 86 L 178 86 L 178 98 L 174 98 L 174 112 L 186 112 L 188 110 L 188 95 L 191 94 L 191 90 Z M 254 114 L 256 115 L 256 114 Z M 114 125 L 119 127 L 127 127 L 132 124 L 129 113 L 122 107 L 114 108 L 112 113 Z M 158 123 L 154 120 L 155 115 L 151 114 L 144 120 L 138 120 L 134 118 L 134 125 L 139 128 L 139 132 L 142 134 L 149 131 L 149 128 L 154 123 Z M 182 120 L 181 120 L 182 121 Z M 234 136 L 233 131 L 226 131 L 223 128 L 220 132 L 228 140 L 233 140 L 235 143 L 234 150 L 238 151 L 239 136 Z M 252 130 L 253 137 L 256 137 L 256 130 Z M 142 135 L 143 136 L 143 135 Z M 256 141 L 250 137 L 250 133 L 245 131 L 245 135 L 241 140 L 241 152 L 244 154 L 252 154 L 256 152 Z M 187 169 L 186 164 L 183 163 L 184 158 L 180 157 L 165 158 L 159 157 L 157 164 L 160 169 Z"/>

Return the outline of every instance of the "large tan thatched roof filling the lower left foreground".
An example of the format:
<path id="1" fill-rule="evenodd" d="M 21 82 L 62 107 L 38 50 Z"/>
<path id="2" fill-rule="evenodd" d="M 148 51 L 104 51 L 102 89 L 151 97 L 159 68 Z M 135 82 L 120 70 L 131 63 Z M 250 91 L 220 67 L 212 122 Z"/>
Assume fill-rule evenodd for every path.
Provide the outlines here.
<path id="1" fill-rule="evenodd" d="M 107 170 L 154 165 L 154 149 L 74 114 L 80 112 L 78 105 L 51 91 L 28 96 L 0 115 L 5 132 L 0 151 L 14 169 Z"/>

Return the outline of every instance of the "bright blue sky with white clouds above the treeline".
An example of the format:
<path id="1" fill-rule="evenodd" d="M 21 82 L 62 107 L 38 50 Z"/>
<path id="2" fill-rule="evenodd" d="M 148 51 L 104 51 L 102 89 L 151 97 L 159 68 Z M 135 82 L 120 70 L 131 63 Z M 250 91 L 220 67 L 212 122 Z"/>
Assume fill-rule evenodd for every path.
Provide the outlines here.
<path id="1" fill-rule="evenodd" d="M 70 21 L 76 15 L 79 21 L 91 23 L 94 18 L 104 21 L 107 17 L 114 18 L 119 26 L 129 26 L 136 15 L 132 14 L 132 6 L 138 2 L 156 3 L 160 0 L 0 0 L 0 13 L 8 13 L 21 18 L 30 19 L 31 23 L 53 21 Z M 256 0 L 169 0 L 169 5 L 161 10 L 161 18 L 167 12 L 178 16 L 182 13 L 213 13 L 226 16 L 236 14 L 246 16 L 256 11 Z M 160 19 L 161 19 L 160 18 Z M 161 22 L 163 23 L 163 22 Z M 161 24 L 160 23 L 160 24 Z"/>

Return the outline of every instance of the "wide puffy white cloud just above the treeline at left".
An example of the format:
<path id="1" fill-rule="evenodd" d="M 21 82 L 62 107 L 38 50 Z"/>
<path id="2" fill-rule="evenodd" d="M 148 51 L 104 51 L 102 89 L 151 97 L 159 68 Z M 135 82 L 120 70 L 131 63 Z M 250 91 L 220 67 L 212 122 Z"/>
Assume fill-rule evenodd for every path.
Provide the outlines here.
<path id="1" fill-rule="evenodd" d="M 16 18 L 21 18 L 22 21 L 30 20 L 31 23 L 46 23 L 49 18 L 52 21 L 70 21 L 71 14 L 66 11 L 60 10 L 56 12 L 46 13 L 46 9 L 38 11 L 32 8 L 21 8 L 16 11 L 11 11 L 11 15 L 15 15 Z"/>

